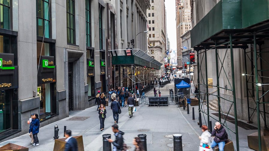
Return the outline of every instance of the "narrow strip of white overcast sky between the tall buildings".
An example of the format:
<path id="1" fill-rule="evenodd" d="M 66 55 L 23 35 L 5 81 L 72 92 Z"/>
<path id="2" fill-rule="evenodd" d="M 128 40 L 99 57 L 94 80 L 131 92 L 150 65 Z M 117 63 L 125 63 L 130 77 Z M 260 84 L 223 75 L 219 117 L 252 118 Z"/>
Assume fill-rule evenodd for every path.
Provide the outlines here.
<path id="1" fill-rule="evenodd" d="M 175 0 L 165 0 L 167 35 L 170 41 L 170 48 L 177 50 L 177 31 L 176 31 L 176 8 Z"/>

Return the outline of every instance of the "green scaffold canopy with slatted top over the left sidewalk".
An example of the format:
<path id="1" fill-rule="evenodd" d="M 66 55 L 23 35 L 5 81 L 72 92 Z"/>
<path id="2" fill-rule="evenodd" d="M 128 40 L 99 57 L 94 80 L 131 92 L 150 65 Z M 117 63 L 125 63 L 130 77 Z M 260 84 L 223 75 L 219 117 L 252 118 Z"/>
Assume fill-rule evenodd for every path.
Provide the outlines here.
<path id="1" fill-rule="evenodd" d="M 140 49 L 110 50 L 112 65 L 139 65 L 148 68 L 161 69 L 162 63 L 150 57 Z"/>

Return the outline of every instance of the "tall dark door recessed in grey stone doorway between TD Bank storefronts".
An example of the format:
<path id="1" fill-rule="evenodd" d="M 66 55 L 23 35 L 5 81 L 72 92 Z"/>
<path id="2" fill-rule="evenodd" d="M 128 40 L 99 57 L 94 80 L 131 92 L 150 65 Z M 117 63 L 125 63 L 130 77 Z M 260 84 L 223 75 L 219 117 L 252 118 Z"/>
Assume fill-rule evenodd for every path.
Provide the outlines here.
<path id="1" fill-rule="evenodd" d="M 73 111 L 73 62 L 68 62 L 68 104 L 69 111 Z"/>

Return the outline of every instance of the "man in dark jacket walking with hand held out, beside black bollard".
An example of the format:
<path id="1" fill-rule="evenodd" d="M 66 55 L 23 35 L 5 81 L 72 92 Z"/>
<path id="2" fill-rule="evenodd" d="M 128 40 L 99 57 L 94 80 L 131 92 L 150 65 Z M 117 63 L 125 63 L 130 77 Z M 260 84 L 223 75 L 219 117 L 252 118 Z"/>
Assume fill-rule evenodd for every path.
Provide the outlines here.
<path id="1" fill-rule="evenodd" d="M 112 125 L 112 131 L 115 133 L 116 139 L 113 141 L 111 138 L 107 139 L 110 143 L 114 145 L 112 151 L 123 151 L 126 150 L 124 146 L 126 144 L 123 141 L 124 132 L 118 130 L 118 125 L 114 124 Z"/>

